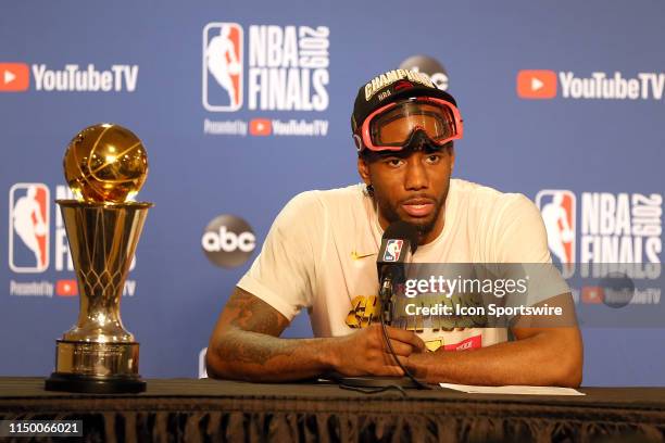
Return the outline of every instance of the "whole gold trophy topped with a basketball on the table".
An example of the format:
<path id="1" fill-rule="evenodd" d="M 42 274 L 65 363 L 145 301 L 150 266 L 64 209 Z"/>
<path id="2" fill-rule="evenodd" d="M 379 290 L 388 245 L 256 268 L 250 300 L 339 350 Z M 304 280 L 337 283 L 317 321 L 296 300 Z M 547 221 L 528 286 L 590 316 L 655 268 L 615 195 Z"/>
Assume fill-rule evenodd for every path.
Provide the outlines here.
<path id="1" fill-rule="evenodd" d="M 81 130 L 67 147 L 65 179 L 77 200 L 59 200 L 80 296 L 76 325 L 58 340 L 49 391 L 142 392 L 139 344 L 120 302 L 152 203 L 131 201 L 148 175 L 141 141 L 117 125 Z"/>

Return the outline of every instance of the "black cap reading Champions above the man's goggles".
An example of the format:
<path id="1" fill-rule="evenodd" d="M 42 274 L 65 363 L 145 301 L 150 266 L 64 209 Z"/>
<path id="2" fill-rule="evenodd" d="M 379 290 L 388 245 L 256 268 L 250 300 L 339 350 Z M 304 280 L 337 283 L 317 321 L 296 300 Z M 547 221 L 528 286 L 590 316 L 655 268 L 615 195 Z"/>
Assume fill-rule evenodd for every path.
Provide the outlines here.
<path id="1" fill-rule="evenodd" d="M 372 81 L 360 88 L 353 103 L 351 130 L 355 134 L 363 121 L 380 106 L 411 97 L 434 97 L 457 106 L 455 99 L 437 88 L 427 74 L 409 69 L 392 69 L 374 77 Z"/>

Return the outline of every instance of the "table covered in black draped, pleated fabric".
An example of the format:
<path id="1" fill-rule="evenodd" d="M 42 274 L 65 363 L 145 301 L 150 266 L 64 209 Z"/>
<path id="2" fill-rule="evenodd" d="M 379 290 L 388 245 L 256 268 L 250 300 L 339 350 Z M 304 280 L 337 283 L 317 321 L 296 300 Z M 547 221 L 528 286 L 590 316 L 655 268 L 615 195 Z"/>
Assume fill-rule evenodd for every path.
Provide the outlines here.
<path id="1" fill-rule="evenodd" d="M 179 379 L 149 380 L 138 395 L 81 395 L 46 392 L 42 379 L 0 378 L 0 419 L 78 419 L 91 442 L 665 441 L 665 389 L 581 391 L 587 395 L 436 389 L 403 396 L 334 384 Z"/>

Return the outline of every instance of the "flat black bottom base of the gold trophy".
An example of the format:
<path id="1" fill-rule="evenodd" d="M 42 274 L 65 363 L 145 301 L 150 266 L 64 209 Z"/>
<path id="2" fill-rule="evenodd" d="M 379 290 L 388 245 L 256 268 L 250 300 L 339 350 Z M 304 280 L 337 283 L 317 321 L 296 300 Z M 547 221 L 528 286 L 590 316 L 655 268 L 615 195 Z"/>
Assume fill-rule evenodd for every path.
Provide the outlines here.
<path id="1" fill-rule="evenodd" d="M 136 394 L 146 391 L 146 382 L 131 377 L 91 377 L 53 372 L 46 380 L 47 391 L 86 394 Z"/>

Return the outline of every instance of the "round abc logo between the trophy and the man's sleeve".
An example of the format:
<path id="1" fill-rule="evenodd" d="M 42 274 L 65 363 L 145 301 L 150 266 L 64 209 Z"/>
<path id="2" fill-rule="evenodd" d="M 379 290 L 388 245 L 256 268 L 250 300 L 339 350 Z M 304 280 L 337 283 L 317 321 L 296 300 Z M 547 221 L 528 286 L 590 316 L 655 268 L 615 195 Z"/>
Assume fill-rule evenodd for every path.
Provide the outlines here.
<path id="1" fill-rule="evenodd" d="M 251 226 L 235 215 L 219 215 L 205 227 L 201 246 L 208 260 L 217 266 L 240 266 L 256 248 Z"/>

